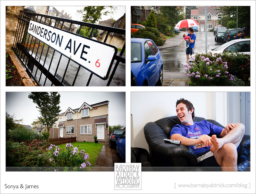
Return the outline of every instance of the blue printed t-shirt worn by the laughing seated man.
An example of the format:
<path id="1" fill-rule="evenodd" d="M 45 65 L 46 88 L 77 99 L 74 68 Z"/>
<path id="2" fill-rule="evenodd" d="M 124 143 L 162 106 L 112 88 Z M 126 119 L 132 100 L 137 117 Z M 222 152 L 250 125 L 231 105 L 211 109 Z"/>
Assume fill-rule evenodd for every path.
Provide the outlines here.
<path id="1" fill-rule="evenodd" d="M 170 137 L 173 134 L 178 133 L 186 138 L 197 139 L 204 134 L 209 135 L 210 137 L 212 137 L 212 135 L 215 134 L 217 138 L 219 138 L 222 130 L 223 129 L 221 127 L 214 125 L 206 120 L 202 120 L 199 122 L 194 122 L 193 125 L 184 125 L 182 123 L 181 125 L 175 125 L 171 130 Z M 202 153 L 210 149 L 210 146 L 207 147 L 206 145 L 201 144 L 188 147 L 191 148 L 196 153 L 197 157 L 199 157 Z"/>

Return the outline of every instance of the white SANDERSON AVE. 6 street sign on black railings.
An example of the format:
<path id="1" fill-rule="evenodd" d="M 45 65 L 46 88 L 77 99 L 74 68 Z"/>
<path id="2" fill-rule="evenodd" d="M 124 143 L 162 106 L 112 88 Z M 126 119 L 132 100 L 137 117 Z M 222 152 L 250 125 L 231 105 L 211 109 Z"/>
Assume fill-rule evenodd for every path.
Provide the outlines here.
<path id="1" fill-rule="evenodd" d="M 107 79 L 117 48 L 30 20 L 28 33 L 102 79 Z"/>

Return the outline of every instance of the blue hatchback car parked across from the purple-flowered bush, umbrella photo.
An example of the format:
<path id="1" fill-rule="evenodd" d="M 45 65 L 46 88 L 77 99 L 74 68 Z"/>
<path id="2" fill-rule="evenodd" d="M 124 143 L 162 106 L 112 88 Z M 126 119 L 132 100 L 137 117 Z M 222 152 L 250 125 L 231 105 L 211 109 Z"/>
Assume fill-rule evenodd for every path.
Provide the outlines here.
<path id="1" fill-rule="evenodd" d="M 162 86 L 163 62 L 154 41 L 131 38 L 131 86 Z"/>

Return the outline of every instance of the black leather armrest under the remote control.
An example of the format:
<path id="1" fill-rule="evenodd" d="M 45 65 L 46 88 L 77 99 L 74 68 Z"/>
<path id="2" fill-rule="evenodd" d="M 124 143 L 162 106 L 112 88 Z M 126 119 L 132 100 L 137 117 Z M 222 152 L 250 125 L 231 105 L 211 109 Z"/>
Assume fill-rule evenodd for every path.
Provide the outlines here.
<path id="1" fill-rule="evenodd" d="M 169 136 L 156 123 L 147 123 L 144 126 L 144 134 L 148 146 L 157 153 L 167 157 L 185 157 L 191 164 L 196 165 L 196 154 L 188 146 L 164 142 L 164 139 Z"/>

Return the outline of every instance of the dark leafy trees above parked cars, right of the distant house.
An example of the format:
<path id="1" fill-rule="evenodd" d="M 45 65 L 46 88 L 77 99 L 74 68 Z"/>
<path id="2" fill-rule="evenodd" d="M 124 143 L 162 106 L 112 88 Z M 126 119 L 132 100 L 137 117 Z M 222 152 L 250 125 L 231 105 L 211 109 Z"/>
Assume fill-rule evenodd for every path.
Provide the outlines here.
<path id="1" fill-rule="evenodd" d="M 236 13 L 237 8 L 237 13 Z M 247 33 L 250 33 L 251 27 L 251 18 L 250 18 L 250 6 L 221 6 L 220 9 L 222 18 L 222 26 L 228 26 L 229 21 L 236 22 L 236 15 L 237 15 L 237 27 L 243 28 L 247 27 Z M 236 27 L 236 26 L 235 26 Z"/>

